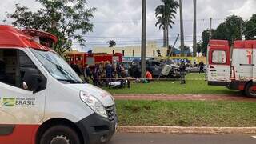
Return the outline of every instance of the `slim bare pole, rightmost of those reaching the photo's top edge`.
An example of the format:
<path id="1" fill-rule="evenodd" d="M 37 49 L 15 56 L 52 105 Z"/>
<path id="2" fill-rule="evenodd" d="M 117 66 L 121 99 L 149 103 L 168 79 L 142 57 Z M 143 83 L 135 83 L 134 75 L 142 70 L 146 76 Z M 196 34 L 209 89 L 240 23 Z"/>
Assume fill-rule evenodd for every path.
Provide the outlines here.
<path id="1" fill-rule="evenodd" d="M 194 2 L 193 57 L 197 56 L 197 0 Z"/>

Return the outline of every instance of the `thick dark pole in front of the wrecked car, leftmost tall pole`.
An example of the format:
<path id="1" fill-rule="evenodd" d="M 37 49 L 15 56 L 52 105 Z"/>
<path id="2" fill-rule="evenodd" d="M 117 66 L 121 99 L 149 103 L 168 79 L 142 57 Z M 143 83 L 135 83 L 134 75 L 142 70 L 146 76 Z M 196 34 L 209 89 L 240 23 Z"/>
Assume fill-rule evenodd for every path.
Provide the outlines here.
<path id="1" fill-rule="evenodd" d="M 142 0 L 142 76 L 146 74 L 146 0 Z"/>

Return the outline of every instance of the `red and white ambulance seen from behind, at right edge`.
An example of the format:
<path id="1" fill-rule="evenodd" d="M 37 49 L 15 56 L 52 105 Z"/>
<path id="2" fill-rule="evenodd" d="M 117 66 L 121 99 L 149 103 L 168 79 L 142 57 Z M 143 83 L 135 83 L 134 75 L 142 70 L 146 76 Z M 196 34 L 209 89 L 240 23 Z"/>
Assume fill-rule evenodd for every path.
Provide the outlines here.
<path id="1" fill-rule="evenodd" d="M 256 40 L 210 40 L 208 48 L 208 84 L 241 90 L 256 98 Z"/>

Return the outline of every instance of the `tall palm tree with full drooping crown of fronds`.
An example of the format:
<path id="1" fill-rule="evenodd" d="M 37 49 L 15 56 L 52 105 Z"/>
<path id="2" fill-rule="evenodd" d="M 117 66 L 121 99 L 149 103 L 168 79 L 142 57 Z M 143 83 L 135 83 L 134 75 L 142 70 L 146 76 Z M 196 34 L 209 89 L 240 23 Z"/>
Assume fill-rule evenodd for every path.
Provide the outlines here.
<path id="1" fill-rule="evenodd" d="M 162 4 L 155 9 L 155 15 L 158 19 L 155 26 L 163 30 L 163 46 L 169 46 L 169 28 L 174 24 L 173 19 L 176 18 L 178 2 L 175 0 L 161 0 Z"/>

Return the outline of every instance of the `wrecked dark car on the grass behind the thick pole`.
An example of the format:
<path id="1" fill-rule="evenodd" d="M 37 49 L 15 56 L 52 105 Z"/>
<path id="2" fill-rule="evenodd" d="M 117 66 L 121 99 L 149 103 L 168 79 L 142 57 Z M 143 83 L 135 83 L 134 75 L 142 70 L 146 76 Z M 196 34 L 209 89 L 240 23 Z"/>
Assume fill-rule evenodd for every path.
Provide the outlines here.
<path id="1" fill-rule="evenodd" d="M 170 66 L 170 62 L 167 63 Z M 146 70 L 149 70 L 152 74 L 153 78 L 158 78 L 159 74 L 162 73 L 162 69 L 165 66 L 164 62 L 160 62 L 158 60 L 149 59 L 146 60 Z M 141 78 L 141 61 L 138 59 L 135 59 L 130 64 L 130 68 L 128 70 L 128 73 L 133 78 Z M 167 76 L 160 75 L 160 78 L 180 78 L 180 74 L 178 73 L 178 69 L 174 66 L 171 66 L 170 73 Z"/>

